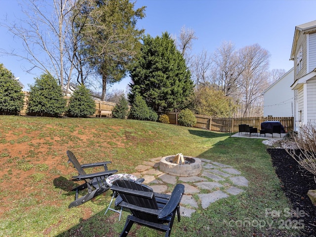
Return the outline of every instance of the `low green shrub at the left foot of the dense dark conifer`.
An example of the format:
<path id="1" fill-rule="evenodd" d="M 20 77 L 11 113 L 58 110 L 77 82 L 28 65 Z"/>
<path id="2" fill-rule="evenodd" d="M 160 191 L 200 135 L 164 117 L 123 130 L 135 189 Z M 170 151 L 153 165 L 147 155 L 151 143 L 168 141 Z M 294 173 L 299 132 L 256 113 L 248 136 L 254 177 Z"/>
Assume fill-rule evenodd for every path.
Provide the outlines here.
<path id="1" fill-rule="evenodd" d="M 141 95 L 135 97 L 134 103 L 131 106 L 130 114 L 133 119 L 157 121 L 158 115 L 146 105 L 145 100 Z"/>

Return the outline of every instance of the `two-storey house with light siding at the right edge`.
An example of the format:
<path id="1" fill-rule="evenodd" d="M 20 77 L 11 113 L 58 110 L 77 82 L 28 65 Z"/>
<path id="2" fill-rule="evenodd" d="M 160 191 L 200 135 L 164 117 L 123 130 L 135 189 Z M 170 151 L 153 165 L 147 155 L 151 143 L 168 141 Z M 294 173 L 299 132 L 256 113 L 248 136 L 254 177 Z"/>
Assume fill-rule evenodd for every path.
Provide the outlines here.
<path id="1" fill-rule="evenodd" d="M 294 61 L 294 129 L 316 123 L 316 21 L 295 27 L 291 58 Z"/>

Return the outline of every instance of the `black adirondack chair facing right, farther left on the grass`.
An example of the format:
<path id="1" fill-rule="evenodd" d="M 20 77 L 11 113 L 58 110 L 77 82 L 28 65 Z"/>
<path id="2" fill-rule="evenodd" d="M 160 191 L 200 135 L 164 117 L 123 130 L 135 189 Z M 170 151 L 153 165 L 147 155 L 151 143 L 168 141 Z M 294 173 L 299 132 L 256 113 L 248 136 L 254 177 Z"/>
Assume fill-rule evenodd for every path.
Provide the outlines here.
<path id="1" fill-rule="evenodd" d="M 68 208 L 79 206 L 85 203 L 88 200 L 91 200 L 93 197 L 96 197 L 103 192 L 110 189 L 110 187 L 105 182 L 106 178 L 116 172 L 118 170 L 108 170 L 107 164 L 111 163 L 111 161 L 104 161 L 104 162 L 97 162 L 97 163 L 90 163 L 90 164 L 80 164 L 75 155 L 71 151 L 67 151 L 67 156 L 69 158 L 68 163 L 72 162 L 74 167 L 78 171 L 77 176 L 73 176 L 75 181 L 84 180 L 85 183 L 79 185 L 78 187 L 74 188 L 72 191 L 76 191 L 75 201 L 71 202 Z M 103 166 L 104 171 L 87 174 L 83 169 L 84 168 L 91 168 Z M 82 197 L 79 197 L 79 191 L 87 189 L 88 193 Z"/>

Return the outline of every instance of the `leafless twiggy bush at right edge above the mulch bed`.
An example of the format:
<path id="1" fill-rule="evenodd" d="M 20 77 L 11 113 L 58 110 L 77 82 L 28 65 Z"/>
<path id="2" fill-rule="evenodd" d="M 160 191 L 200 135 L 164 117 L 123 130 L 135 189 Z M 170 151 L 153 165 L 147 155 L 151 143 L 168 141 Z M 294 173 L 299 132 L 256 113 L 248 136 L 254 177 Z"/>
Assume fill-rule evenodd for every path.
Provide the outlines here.
<path id="1" fill-rule="evenodd" d="M 287 153 L 303 168 L 316 175 L 316 125 L 303 125 L 297 134 L 292 133 L 291 138 L 298 149 L 286 149 Z"/>

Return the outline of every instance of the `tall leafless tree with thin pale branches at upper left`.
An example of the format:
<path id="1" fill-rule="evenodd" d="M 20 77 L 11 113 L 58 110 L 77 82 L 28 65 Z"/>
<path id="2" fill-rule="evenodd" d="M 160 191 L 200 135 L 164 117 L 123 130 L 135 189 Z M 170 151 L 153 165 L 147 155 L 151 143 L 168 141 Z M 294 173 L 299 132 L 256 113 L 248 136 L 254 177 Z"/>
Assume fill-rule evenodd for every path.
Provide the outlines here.
<path id="1" fill-rule="evenodd" d="M 38 68 L 50 72 L 58 78 L 61 85 L 65 78 L 71 78 L 73 64 L 66 59 L 65 42 L 72 10 L 81 0 L 24 0 L 21 2 L 25 18 L 11 25 L 5 25 L 14 37 L 22 40 L 21 51 L 1 49 L 1 53 L 20 57 L 31 63 L 31 72 Z M 68 72 L 65 73 L 65 68 Z"/>

